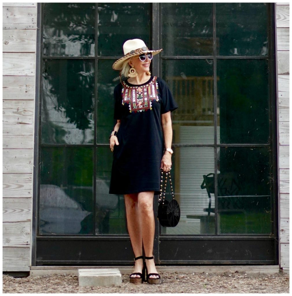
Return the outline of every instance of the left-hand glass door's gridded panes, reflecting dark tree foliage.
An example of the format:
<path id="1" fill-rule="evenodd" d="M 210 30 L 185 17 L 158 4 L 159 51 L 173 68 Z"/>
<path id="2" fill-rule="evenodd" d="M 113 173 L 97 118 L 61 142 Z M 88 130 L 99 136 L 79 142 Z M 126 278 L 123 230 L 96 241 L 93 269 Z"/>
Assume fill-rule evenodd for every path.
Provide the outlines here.
<path id="1" fill-rule="evenodd" d="M 108 194 L 113 62 L 123 42 L 150 46 L 150 3 L 44 3 L 38 233 L 127 234 Z M 135 36 L 133 36 L 135 32 Z"/>

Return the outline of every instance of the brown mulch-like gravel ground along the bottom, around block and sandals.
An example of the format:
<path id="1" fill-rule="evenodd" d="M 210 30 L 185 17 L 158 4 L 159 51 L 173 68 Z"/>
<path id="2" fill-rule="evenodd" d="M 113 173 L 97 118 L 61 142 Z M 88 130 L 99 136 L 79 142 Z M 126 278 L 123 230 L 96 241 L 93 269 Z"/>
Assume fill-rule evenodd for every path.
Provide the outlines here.
<path id="1" fill-rule="evenodd" d="M 160 284 L 150 285 L 131 284 L 129 274 L 122 274 L 119 287 L 79 287 L 78 276 L 69 274 L 26 278 L 3 275 L 3 293 L 289 293 L 289 275 L 283 272 L 160 272 L 160 275 Z"/>

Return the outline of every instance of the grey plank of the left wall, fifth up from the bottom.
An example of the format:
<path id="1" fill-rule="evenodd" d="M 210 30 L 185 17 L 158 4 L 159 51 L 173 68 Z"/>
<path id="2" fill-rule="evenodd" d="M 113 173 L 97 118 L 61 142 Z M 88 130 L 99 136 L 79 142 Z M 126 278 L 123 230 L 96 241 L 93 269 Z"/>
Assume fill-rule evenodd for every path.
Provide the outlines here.
<path id="1" fill-rule="evenodd" d="M 33 149 L 3 149 L 3 173 L 32 173 Z"/>

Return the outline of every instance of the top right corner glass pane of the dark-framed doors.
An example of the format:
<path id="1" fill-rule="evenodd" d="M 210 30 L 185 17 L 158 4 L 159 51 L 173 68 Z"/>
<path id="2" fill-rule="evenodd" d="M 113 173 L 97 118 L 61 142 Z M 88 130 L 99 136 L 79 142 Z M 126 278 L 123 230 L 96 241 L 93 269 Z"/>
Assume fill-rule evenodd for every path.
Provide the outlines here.
<path id="1" fill-rule="evenodd" d="M 216 47 L 224 56 L 267 56 L 267 3 L 216 3 Z"/>

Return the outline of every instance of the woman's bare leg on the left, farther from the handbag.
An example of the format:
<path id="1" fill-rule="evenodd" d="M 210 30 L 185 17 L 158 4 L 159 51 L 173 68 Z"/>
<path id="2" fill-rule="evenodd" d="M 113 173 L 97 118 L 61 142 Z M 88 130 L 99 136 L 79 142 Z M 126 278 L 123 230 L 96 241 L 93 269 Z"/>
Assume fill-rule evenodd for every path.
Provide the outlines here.
<path id="1" fill-rule="evenodd" d="M 126 215 L 127 215 L 127 228 L 129 236 L 131 239 L 131 244 L 135 257 L 142 255 L 142 234 L 140 227 L 140 219 L 138 213 L 138 194 L 125 194 L 125 206 L 126 206 Z M 143 260 L 138 259 L 135 261 L 135 269 L 133 272 L 142 272 Z M 131 277 L 140 276 L 137 274 L 132 275 Z"/>

